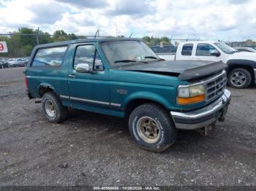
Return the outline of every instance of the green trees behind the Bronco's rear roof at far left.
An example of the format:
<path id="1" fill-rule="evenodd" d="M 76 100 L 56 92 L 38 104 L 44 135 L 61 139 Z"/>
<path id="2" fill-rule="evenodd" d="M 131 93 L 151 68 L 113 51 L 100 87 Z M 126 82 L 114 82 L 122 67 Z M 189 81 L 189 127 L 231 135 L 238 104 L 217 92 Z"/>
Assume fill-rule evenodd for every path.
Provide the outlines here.
<path id="1" fill-rule="evenodd" d="M 38 36 L 37 36 L 38 34 Z M 10 36 L 0 36 L 0 41 L 7 42 L 8 53 L 1 53 L 0 57 L 19 58 L 30 56 L 33 48 L 38 44 L 50 42 L 60 42 L 78 39 L 75 34 L 67 34 L 63 30 L 58 30 L 50 35 L 48 32 L 37 31 L 33 28 L 19 28 Z"/>

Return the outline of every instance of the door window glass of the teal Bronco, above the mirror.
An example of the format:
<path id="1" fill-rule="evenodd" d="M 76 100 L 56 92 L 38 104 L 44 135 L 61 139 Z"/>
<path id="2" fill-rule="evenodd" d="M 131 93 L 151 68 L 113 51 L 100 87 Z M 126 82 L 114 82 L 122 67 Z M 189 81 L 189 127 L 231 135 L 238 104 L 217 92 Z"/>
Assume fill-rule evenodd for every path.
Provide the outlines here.
<path id="1" fill-rule="evenodd" d="M 77 47 L 73 65 L 74 69 L 78 63 L 88 63 L 91 69 L 94 66 L 95 71 L 102 71 L 104 69 L 102 60 L 99 57 L 99 53 L 97 52 L 95 46 L 92 44 L 81 45 Z"/>

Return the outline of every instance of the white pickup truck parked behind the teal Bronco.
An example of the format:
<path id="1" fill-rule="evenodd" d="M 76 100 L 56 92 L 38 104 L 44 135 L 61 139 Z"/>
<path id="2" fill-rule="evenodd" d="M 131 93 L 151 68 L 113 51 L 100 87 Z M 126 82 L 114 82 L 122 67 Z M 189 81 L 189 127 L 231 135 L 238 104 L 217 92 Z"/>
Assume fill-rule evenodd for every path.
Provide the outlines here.
<path id="1" fill-rule="evenodd" d="M 176 54 L 157 54 L 166 61 L 222 61 L 227 63 L 227 82 L 236 88 L 256 83 L 256 53 L 238 52 L 224 42 L 197 41 L 178 44 Z"/>

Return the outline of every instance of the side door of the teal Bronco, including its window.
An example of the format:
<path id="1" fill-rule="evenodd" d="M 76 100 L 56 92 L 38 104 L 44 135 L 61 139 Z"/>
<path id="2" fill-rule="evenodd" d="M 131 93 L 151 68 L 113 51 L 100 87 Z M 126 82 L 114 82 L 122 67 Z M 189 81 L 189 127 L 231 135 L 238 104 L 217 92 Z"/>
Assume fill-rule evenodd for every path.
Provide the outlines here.
<path id="1" fill-rule="evenodd" d="M 93 111 L 94 107 L 106 109 L 110 103 L 108 70 L 105 70 L 95 44 L 78 44 L 74 47 L 68 82 L 69 98 L 75 108 Z M 78 63 L 87 63 L 91 72 L 75 70 Z"/>

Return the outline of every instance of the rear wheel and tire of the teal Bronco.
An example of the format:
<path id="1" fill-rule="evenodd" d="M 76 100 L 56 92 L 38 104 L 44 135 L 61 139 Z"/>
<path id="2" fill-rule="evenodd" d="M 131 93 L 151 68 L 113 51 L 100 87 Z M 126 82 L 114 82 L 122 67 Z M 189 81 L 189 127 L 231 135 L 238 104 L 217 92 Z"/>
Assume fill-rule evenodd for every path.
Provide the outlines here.
<path id="1" fill-rule="evenodd" d="M 50 114 L 53 112 L 52 115 L 47 112 L 49 111 L 49 104 L 50 106 L 53 106 L 53 109 L 50 111 Z M 53 92 L 48 92 L 42 95 L 42 110 L 45 112 L 49 122 L 59 123 L 66 120 L 67 108 L 62 106 L 61 101 Z"/>

